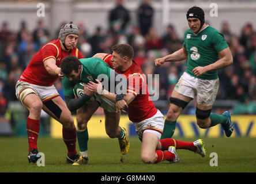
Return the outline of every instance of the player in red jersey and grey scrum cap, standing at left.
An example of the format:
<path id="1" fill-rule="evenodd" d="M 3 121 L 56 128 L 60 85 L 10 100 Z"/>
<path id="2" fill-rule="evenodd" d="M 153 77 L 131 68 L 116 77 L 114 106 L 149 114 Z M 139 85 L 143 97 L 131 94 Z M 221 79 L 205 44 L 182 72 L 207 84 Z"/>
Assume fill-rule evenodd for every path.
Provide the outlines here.
<path id="1" fill-rule="evenodd" d="M 42 109 L 63 125 L 62 137 L 68 151 L 67 162 L 73 163 L 79 158 L 76 151 L 76 129 L 73 117 L 54 86 L 58 77 L 63 77 L 59 65 L 64 57 L 73 55 L 78 59 L 84 58 L 76 48 L 78 36 L 78 27 L 72 22 L 63 25 L 59 38 L 44 45 L 33 56 L 16 83 L 16 96 L 29 110 L 27 120 L 29 163 L 35 163 L 40 158 L 37 151 L 37 137 Z"/>

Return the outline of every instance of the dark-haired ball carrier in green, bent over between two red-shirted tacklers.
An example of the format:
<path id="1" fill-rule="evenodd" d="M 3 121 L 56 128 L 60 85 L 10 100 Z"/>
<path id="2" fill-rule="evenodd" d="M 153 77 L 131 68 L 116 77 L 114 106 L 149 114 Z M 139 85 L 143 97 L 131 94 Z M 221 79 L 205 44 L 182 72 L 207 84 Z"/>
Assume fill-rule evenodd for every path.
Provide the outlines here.
<path id="1" fill-rule="evenodd" d="M 70 111 L 77 110 L 77 141 L 81 156 L 73 165 L 88 163 L 87 123 L 99 106 L 104 109 L 107 135 L 111 138 L 118 138 L 121 153 L 123 155 L 127 154 L 130 143 L 126 129 L 119 127 L 121 112 L 116 113 L 115 104 L 107 98 L 86 90 L 86 84 L 89 81 L 96 82 L 95 79 L 99 79 L 99 75 L 101 75 L 104 78 L 105 84 L 109 83 L 110 87 L 111 83 L 114 84 L 113 87 L 116 89 L 114 93 L 122 98 L 122 90 L 119 90 L 116 86 L 121 86 L 122 82 L 127 81 L 126 78 L 117 74 L 108 67 L 107 63 L 97 57 L 78 60 L 77 57 L 67 56 L 62 60 L 60 67 L 61 73 L 65 75 L 62 80 L 62 85 L 67 108 L 69 108 Z M 73 89 L 80 82 L 84 83 L 84 93 L 81 94 L 80 98 L 75 99 Z M 109 85 L 104 86 L 104 89 L 109 90 L 107 86 Z M 126 91 L 126 88 L 124 89 Z M 91 102 L 89 105 L 86 104 L 86 102 L 92 99 L 91 97 L 93 95 L 96 97 L 95 101 Z"/>

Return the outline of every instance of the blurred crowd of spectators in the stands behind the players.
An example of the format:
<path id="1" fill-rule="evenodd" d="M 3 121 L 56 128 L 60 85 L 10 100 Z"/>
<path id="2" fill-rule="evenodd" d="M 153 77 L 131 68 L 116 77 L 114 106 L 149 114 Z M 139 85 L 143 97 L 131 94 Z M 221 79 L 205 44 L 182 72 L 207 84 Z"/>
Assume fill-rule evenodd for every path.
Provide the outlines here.
<path id="1" fill-rule="evenodd" d="M 77 22 L 80 37 L 77 47 L 84 57 L 91 57 L 95 53 L 111 53 L 111 46 L 128 43 L 135 51 L 134 60 L 140 64 L 145 75 L 159 74 L 159 83 L 149 84 L 160 87 L 160 100 L 168 101 L 175 83 L 186 70 L 186 60 L 182 62 L 165 63 L 155 67 L 154 60 L 168 55 L 182 47 L 183 39 L 176 34 L 175 26 L 168 25 L 163 34 L 157 33 L 152 24 L 154 10 L 148 1 L 142 1 L 137 10 L 137 25 L 130 31 L 130 13 L 117 1 L 114 9 L 109 13 L 108 29 L 101 26 L 89 34 L 85 22 Z M 65 24 L 66 22 L 63 22 Z M 76 23 L 76 22 L 75 22 Z M 43 20 L 37 22 L 36 28 L 29 32 L 27 23 L 22 21 L 20 30 L 9 30 L 9 22 L 3 22 L 0 28 L 0 106 L 6 106 L 8 101 L 17 101 L 15 85 L 22 71 L 37 51 L 49 41 L 58 38 L 59 30 L 54 36 Z M 61 25 L 60 25 L 61 26 Z M 256 114 L 256 32 L 250 23 L 245 23 L 240 35 L 235 35 L 229 29 L 228 22 L 221 22 L 219 30 L 228 42 L 234 57 L 234 64 L 219 70 L 220 88 L 217 99 L 238 100 L 234 112 L 242 114 Z M 154 81 L 154 80 L 153 80 Z M 62 95 L 61 81 L 55 84 Z M 1 111 L 2 113 L 2 111 Z"/>

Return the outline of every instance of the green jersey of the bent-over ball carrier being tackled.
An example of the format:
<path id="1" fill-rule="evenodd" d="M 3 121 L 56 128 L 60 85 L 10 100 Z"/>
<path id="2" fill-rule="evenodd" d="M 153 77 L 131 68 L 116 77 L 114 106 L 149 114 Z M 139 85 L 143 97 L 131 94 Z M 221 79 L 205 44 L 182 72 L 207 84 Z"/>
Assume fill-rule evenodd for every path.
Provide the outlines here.
<path id="1" fill-rule="evenodd" d="M 97 57 L 90 57 L 85 59 L 80 59 L 82 64 L 81 79 L 79 82 L 88 83 L 89 81 L 95 82 L 97 76 L 104 74 L 110 79 L 110 74 L 112 69 L 103 60 Z M 64 90 L 64 95 L 67 97 L 74 97 L 73 88 L 76 83 L 70 82 L 69 79 L 64 76 L 62 79 L 62 85 Z"/>

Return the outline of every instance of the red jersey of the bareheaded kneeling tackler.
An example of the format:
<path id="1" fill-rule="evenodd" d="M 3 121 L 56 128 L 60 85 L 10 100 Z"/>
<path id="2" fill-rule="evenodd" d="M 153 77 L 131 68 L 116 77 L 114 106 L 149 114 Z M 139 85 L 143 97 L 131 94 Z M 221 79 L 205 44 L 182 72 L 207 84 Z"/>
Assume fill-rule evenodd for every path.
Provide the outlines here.
<path id="1" fill-rule="evenodd" d="M 111 58 L 112 55 L 108 54 L 103 60 L 114 69 Z M 146 84 L 146 78 L 141 67 L 133 60 L 133 64 L 126 71 L 115 71 L 126 76 L 128 81 L 127 93 L 132 93 L 135 96 L 127 109 L 129 119 L 132 122 L 141 122 L 154 116 L 157 113 L 157 109 L 149 97 L 148 85 Z"/>

